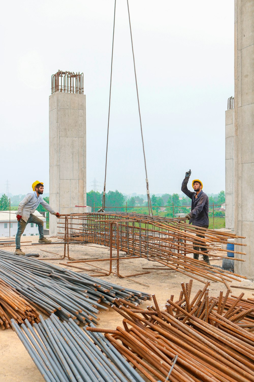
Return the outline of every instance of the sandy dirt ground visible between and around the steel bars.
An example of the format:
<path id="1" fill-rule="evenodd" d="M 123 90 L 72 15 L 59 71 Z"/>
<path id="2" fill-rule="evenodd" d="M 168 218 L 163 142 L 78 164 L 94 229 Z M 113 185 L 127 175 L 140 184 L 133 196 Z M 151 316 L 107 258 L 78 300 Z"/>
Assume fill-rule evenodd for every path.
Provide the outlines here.
<path id="1" fill-rule="evenodd" d="M 26 237 L 26 240 L 31 240 L 32 242 L 37 242 L 38 237 Z M 57 238 L 52 238 L 52 241 L 58 241 Z M 26 243 L 31 244 L 31 243 Z M 1 247 L 3 248 L 3 247 Z M 26 253 L 38 253 L 40 258 L 52 258 L 56 257 L 56 260 L 48 260 L 53 264 L 59 264 L 57 254 L 63 255 L 64 249 L 62 244 L 49 244 L 49 245 L 38 245 L 38 246 L 27 246 L 21 247 Z M 14 252 L 15 247 L 4 247 L 6 251 Z M 42 251 L 43 250 L 43 251 Z M 51 251 L 52 253 L 47 253 L 44 251 Z M 222 253 L 220 253 L 222 254 Z M 71 244 L 70 245 L 70 257 L 72 259 L 104 259 L 109 257 L 109 249 L 104 246 L 99 246 L 96 244 Z M 68 260 L 67 260 L 68 261 Z M 60 262 L 67 262 L 66 259 Z M 103 265 L 102 265 L 103 263 Z M 212 261 L 212 265 L 221 265 L 222 261 Z M 92 264 L 99 267 L 107 269 L 109 267 L 108 261 L 103 262 L 93 262 Z M 84 263 L 73 264 L 80 267 L 88 268 Z M 164 308 L 166 300 L 170 298 L 171 295 L 175 295 L 175 299 L 178 299 L 179 293 L 181 291 L 181 282 L 189 282 L 190 278 L 181 274 L 180 272 L 175 272 L 171 270 L 156 270 L 161 264 L 157 262 L 150 262 L 146 259 L 129 259 L 120 261 L 120 273 L 122 275 L 134 274 L 139 272 L 151 272 L 150 274 L 140 275 L 133 277 L 132 280 L 127 280 L 126 278 L 117 278 L 114 275 L 108 277 L 103 277 L 104 280 L 113 282 L 118 285 L 126 286 L 128 288 L 133 288 L 140 291 L 145 291 L 147 293 L 155 294 L 159 307 Z M 64 265 L 60 265 L 65 267 Z M 151 267 L 153 269 L 146 270 L 145 267 Z M 75 271 L 79 269 L 70 268 Z M 89 267 L 90 268 L 90 267 Z M 113 265 L 113 272 L 116 271 L 116 264 Z M 145 285 L 138 284 L 142 283 Z M 254 288 L 254 282 L 250 280 L 243 280 L 237 282 L 232 280 L 230 285 L 247 286 Z M 192 295 L 195 296 L 199 289 L 203 289 L 204 284 L 193 280 Z M 227 288 L 224 284 L 219 282 L 210 282 L 210 292 L 209 296 L 218 296 L 219 291 L 222 290 L 225 294 Z M 251 290 L 242 290 L 232 288 L 232 295 L 239 296 L 241 292 L 244 292 L 244 298 L 254 298 Z M 150 301 L 144 302 L 141 306 L 145 308 L 147 305 L 152 304 Z M 121 325 L 122 317 L 115 312 L 112 308 L 109 311 L 102 311 L 99 314 L 100 326 L 108 329 L 115 329 L 117 325 Z M 33 382 L 44 381 L 37 367 L 35 366 L 32 358 L 30 358 L 26 349 L 22 345 L 16 333 L 13 330 L 0 330 L 0 381 L 1 382 L 26 382 L 27 380 L 32 380 Z"/>

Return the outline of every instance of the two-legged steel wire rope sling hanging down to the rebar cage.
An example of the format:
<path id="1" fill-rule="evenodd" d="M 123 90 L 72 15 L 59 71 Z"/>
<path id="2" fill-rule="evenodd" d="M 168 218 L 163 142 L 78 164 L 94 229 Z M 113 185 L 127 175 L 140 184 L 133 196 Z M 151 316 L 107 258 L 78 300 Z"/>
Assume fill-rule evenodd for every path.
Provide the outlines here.
<path id="1" fill-rule="evenodd" d="M 116 0 L 115 0 L 115 6 L 116 6 Z M 129 15 L 129 2 L 128 2 L 128 0 L 127 0 L 127 6 L 128 6 L 128 16 L 129 16 L 129 30 L 130 30 L 130 34 L 131 34 L 131 49 L 132 49 L 132 55 L 133 55 L 133 65 L 134 65 L 134 74 L 135 74 L 136 91 L 137 91 L 137 104 L 138 104 L 138 108 L 139 108 L 139 121 L 140 121 L 141 138 L 142 138 L 144 163 L 145 163 L 145 181 L 146 181 L 146 189 L 147 189 L 146 192 L 147 192 L 148 212 L 149 212 L 150 217 L 152 217 L 153 216 L 153 211 L 152 211 L 152 203 L 151 203 L 150 192 L 149 192 L 149 184 L 148 184 L 148 178 L 147 178 L 147 168 L 146 168 L 146 161 L 145 161 L 145 147 L 144 147 L 144 138 L 143 138 L 143 131 L 142 131 L 140 105 L 139 105 L 139 92 L 138 92 L 138 89 L 137 89 L 136 65 L 135 65 L 134 50 L 133 50 L 133 39 L 132 39 L 132 32 L 131 32 L 131 19 L 130 19 L 130 15 Z M 112 64 L 113 64 L 114 36 L 115 36 L 115 8 L 114 8 L 113 40 L 112 40 L 112 55 L 111 55 L 111 71 L 110 71 L 109 115 L 110 115 L 110 100 L 111 100 L 111 85 L 112 85 Z M 102 207 L 101 207 L 101 209 L 99 209 L 98 212 L 105 212 L 104 210 L 105 210 L 105 194 L 106 194 L 105 190 L 106 190 L 108 143 L 109 143 L 109 116 L 108 116 L 108 128 L 107 128 L 105 180 L 104 180 L 104 189 L 103 189 L 103 196 L 102 196 Z"/>

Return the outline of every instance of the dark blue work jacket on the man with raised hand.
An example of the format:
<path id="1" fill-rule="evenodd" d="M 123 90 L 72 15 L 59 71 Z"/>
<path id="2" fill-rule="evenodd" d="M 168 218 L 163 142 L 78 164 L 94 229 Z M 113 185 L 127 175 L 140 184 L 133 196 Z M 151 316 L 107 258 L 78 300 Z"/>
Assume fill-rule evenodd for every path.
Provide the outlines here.
<path id="1" fill-rule="evenodd" d="M 209 211 L 209 198 L 201 190 L 195 198 L 196 193 L 188 190 L 187 183 L 189 178 L 184 178 L 182 182 L 182 192 L 192 199 L 192 207 L 189 215 L 191 219 L 189 224 L 197 225 L 198 227 L 203 227 L 204 225 L 209 225 L 208 211 Z"/>

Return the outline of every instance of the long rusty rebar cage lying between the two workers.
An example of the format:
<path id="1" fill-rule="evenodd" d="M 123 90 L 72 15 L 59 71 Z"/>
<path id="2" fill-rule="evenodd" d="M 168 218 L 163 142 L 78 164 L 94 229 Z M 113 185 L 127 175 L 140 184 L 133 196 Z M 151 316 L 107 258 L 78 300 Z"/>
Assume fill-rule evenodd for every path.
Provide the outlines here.
<path id="1" fill-rule="evenodd" d="M 110 229 L 110 226 L 113 229 Z M 236 250 L 237 246 L 246 245 L 242 243 L 243 236 L 195 227 L 179 219 L 158 216 L 151 218 L 148 215 L 134 213 L 100 212 L 65 215 L 60 218 L 58 227 L 62 228 L 62 233 L 65 233 L 65 241 L 67 238 L 75 243 L 96 243 L 117 248 L 132 256 L 157 261 L 165 269 L 176 270 L 198 281 L 202 281 L 200 277 L 204 277 L 208 280 L 227 283 L 232 279 L 239 281 L 240 275 L 195 260 L 189 256 L 190 254 L 200 254 L 200 256 L 207 254 L 214 259 L 227 258 L 224 249 L 218 248 L 218 245 L 226 244 L 228 239 L 235 239 L 235 251 L 228 252 L 234 252 L 237 257 L 231 257 L 231 259 L 245 261 L 245 253 Z M 199 248 L 193 249 L 193 246 L 201 248 L 203 252 Z M 75 262 L 89 264 L 89 260 Z M 102 269 L 99 266 L 96 268 Z"/>

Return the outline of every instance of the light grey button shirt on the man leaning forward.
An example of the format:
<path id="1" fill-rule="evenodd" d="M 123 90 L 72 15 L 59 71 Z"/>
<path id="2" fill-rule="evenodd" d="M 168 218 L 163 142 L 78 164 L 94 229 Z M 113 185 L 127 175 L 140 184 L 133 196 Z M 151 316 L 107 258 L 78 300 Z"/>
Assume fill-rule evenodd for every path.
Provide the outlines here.
<path id="1" fill-rule="evenodd" d="M 22 219 L 27 222 L 30 215 L 35 212 L 39 204 L 45 207 L 52 215 L 56 215 L 56 212 L 45 202 L 42 195 L 37 197 L 36 191 L 26 194 L 24 199 L 19 203 L 18 215 L 21 215 Z"/>

